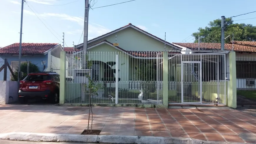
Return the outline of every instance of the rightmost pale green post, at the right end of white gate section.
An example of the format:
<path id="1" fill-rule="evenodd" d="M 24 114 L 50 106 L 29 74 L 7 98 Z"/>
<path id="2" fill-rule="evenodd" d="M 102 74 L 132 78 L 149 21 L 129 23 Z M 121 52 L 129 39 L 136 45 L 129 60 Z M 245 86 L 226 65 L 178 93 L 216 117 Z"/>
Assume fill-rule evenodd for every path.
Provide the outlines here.
<path id="1" fill-rule="evenodd" d="M 237 76 L 236 76 L 236 55 L 234 51 L 229 53 L 229 72 L 230 72 L 230 83 L 228 84 L 227 106 L 231 108 L 236 108 L 237 107 L 237 80 L 236 80 Z"/>

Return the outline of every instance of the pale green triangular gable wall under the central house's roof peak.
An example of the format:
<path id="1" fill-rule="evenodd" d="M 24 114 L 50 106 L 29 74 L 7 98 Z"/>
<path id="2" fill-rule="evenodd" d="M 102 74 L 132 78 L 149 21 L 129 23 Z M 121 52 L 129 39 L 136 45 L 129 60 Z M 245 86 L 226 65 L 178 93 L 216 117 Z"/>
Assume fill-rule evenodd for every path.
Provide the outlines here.
<path id="1" fill-rule="evenodd" d="M 117 34 L 117 43 L 119 47 L 126 51 L 164 51 L 164 43 L 152 37 L 147 36 L 133 28 L 127 28 L 119 31 Z M 91 46 L 100 41 L 107 40 L 111 43 L 116 43 L 116 35 L 112 34 L 92 43 Z M 166 45 L 167 50 L 171 50 L 171 46 Z"/>

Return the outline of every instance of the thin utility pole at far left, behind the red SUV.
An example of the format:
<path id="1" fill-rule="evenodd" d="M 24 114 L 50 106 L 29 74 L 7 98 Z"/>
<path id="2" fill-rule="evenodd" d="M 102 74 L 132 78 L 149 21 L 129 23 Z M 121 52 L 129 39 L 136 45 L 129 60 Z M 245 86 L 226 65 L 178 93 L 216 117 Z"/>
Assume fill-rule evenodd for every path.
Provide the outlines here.
<path id="1" fill-rule="evenodd" d="M 19 68 L 18 68 L 18 83 L 20 81 L 20 64 L 21 64 L 21 40 L 22 40 L 22 23 L 23 23 L 23 6 L 24 0 L 21 0 L 21 20 L 20 20 L 20 36 L 19 36 Z"/>

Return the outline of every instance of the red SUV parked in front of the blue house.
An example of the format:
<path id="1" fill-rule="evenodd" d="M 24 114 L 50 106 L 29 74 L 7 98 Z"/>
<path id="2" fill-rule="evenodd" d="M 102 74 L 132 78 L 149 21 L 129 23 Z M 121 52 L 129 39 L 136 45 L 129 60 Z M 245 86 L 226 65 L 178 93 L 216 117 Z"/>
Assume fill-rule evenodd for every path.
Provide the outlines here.
<path id="1" fill-rule="evenodd" d="M 29 73 L 19 82 L 19 102 L 27 103 L 28 99 L 48 99 L 59 103 L 59 74 L 56 72 Z"/>

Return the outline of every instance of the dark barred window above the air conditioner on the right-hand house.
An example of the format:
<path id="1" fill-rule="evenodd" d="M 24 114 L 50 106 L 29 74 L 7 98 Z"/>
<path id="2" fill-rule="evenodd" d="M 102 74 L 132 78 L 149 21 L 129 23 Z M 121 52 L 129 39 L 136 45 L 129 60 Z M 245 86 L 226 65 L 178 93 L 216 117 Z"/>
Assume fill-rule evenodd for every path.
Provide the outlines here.
<path id="1" fill-rule="evenodd" d="M 256 61 L 236 61 L 237 78 L 256 78 Z"/>

